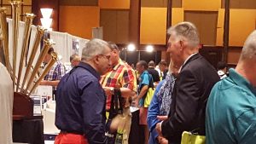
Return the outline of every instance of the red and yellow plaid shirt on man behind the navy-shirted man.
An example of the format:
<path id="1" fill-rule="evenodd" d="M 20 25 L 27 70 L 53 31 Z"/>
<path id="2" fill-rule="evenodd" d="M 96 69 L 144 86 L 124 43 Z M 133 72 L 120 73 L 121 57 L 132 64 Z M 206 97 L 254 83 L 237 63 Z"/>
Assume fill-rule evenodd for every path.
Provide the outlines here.
<path id="1" fill-rule="evenodd" d="M 102 87 L 128 88 L 133 91 L 137 90 L 137 79 L 135 72 L 131 66 L 125 64 L 125 62 L 122 60 L 119 60 L 118 65 L 114 66 L 112 71 L 102 76 L 101 84 Z M 112 95 L 107 95 L 107 110 L 110 109 L 111 96 Z"/>

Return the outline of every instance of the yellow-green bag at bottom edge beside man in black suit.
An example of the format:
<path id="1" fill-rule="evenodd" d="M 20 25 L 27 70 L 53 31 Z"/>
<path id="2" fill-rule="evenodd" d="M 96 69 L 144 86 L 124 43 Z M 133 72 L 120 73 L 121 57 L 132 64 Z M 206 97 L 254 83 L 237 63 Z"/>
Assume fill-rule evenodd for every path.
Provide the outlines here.
<path id="1" fill-rule="evenodd" d="M 188 131 L 183 131 L 181 144 L 205 144 L 206 136 L 195 135 Z"/>

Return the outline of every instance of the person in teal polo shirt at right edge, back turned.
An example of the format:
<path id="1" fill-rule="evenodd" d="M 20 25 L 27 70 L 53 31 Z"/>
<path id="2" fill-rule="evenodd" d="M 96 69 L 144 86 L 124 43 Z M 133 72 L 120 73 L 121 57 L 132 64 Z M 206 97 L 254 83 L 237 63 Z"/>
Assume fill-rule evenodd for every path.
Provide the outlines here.
<path id="1" fill-rule="evenodd" d="M 229 72 L 207 101 L 207 144 L 256 143 L 256 31 L 247 37 L 236 69 Z"/>

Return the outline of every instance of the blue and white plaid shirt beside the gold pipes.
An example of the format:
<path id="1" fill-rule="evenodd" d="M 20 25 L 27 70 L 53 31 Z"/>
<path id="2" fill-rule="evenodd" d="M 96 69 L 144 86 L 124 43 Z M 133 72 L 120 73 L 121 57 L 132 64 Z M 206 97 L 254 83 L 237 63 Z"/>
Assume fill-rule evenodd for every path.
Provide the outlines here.
<path id="1" fill-rule="evenodd" d="M 61 80 L 65 75 L 65 67 L 61 64 L 61 61 L 57 60 L 54 66 L 51 67 L 49 72 L 44 76 L 44 80 L 55 81 Z"/>

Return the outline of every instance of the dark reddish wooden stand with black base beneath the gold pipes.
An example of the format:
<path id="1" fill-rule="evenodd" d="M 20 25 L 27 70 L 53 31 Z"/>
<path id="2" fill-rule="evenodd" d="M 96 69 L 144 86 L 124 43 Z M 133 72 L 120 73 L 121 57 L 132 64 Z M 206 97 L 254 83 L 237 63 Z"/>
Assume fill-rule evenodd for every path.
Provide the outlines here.
<path id="1" fill-rule="evenodd" d="M 33 115 L 34 102 L 29 96 L 15 92 L 13 107 L 13 141 L 44 143 L 42 115 Z"/>

